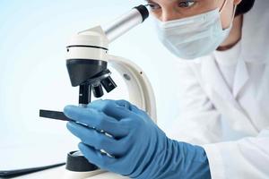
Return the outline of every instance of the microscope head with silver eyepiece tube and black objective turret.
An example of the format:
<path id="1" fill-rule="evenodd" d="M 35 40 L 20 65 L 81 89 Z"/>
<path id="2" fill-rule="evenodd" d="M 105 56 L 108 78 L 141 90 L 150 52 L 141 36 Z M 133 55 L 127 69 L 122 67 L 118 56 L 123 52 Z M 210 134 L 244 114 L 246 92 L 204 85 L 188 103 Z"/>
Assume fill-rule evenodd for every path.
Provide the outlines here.
<path id="1" fill-rule="evenodd" d="M 76 34 L 67 46 L 66 66 L 72 86 L 80 86 L 82 91 L 89 87 L 96 98 L 103 96 L 102 87 L 107 92 L 114 90 L 117 85 L 108 70 L 108 44 L 148 17 L 147 8 L 139 5 L 104 28 L 97 26 Z"/>

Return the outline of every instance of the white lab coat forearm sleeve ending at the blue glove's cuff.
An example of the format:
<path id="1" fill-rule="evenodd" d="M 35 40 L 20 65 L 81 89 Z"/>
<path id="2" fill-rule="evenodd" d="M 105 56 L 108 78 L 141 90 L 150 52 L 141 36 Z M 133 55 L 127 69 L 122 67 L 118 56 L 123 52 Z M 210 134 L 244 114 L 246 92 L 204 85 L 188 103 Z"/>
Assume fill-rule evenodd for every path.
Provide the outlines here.
<path id="1" fill-rule="evenodd" d="M 269 177 L 269 127 L 256 137 L 203 147 L 213 179 Z"/>

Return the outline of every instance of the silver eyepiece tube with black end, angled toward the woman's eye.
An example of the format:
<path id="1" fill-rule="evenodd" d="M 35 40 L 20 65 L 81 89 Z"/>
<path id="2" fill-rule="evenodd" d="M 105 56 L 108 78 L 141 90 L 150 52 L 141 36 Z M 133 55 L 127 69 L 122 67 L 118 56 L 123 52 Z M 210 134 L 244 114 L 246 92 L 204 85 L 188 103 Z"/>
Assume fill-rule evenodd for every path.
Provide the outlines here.
<path id="1" fill-rule="evenodd" d="M 128 30 L 133 29 L 149 17 L 149 11 L 144 5 L 134 7 L 129 13 L 122 15 L 116 21 L 103 26 L 103 30 L 109 40 L 113 40 L 124 35 Z"/>

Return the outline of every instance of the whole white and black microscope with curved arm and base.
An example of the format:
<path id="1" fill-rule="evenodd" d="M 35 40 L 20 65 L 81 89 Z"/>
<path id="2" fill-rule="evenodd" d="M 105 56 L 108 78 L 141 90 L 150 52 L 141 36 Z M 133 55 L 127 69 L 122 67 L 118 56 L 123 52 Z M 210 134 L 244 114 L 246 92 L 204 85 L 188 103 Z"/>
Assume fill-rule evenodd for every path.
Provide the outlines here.
<path id="1" fill-rule="evenodd" d="M 141 24 L 148 16 L 147 8 L 139 5 L 106 26 L 83 30 L 71 38 L 66 49 L 66 67 L 72 86 L 79 87 L 80 107 L 86 107 L 91 103 L 91 93 L 95 98 L 101 98 L 104 90 L 109 93 L 117 88 L 116 82 L 110 76 L 109 64 L 126 82 L 129 101 L 146 111 L 156 123 L 155 98 L 152 85 L 145 73 L 130 60 L 108 54 L 108 45 L 111 42 Z M 62 112 L 48 110 L 40 110 L 39 116 L 72 120 Z M 126 178 L 101 170 L 84 158 L 80 151 L 68 153 L 65 171 L 62 172 L 66 179 Z"/>

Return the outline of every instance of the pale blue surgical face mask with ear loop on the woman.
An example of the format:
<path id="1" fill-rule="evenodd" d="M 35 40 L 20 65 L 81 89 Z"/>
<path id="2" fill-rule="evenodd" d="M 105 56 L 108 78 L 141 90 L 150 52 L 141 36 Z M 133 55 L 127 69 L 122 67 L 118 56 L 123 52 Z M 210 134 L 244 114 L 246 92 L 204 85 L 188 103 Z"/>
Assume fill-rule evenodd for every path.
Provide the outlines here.
<path id="1" fill-rule="evenodd" d="M 228 29 L 222 30 L 220 13 L 218 8 L 180 20 L 162 22 L 156 19 L 158 37 L 179 58 L 195 59 L 210 55 L 229 36 L 232 27 L 231 22 Z M 234 14 L 235 11 L 233 17 Z"/>

